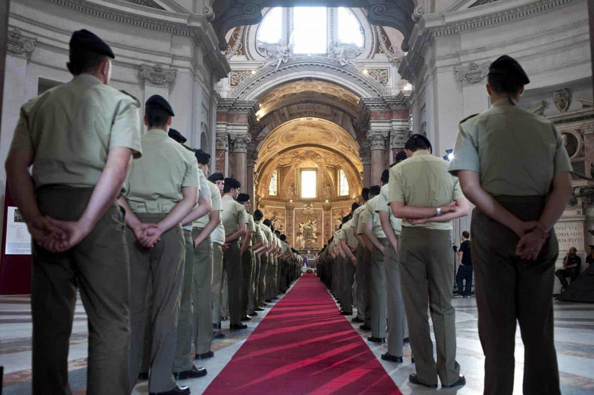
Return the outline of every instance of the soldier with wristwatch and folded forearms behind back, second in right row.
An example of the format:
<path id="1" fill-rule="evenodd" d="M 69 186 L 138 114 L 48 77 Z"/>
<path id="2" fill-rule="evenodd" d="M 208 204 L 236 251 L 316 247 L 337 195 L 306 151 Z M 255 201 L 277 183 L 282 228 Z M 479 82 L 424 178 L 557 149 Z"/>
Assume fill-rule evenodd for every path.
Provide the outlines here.
<path id="1" fill-rule="evenodd" d="M 469 203 L 458 179 L 447 172 L 448 162 L 431 155 L 431 143 L 413 134 L 405 144 L 408 159 L 390 169 L 388 204 L 394 217 L 404 219 L 398 241 L 399 271 L 405 303 L 410 348 L 416 373 L 409 381 L 444 388 L 464 385 L 456 362 L 455 310 L 451 305 L 454 286 L 454 254 L 451 220 L 466 216 Z M 429 293 L 427 292 L 429 287 Z M 429 335 L 427 306 L 437 343 L 437 364 Z"/>

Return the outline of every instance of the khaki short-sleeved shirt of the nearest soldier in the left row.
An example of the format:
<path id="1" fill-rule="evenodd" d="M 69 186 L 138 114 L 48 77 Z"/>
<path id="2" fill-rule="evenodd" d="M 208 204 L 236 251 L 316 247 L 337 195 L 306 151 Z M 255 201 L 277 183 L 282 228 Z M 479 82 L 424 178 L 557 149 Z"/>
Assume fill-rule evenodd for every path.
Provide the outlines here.
<path id="1" fill-rule="evenodd" d="M 140 156 L 138 103 L 90 74 L 24 104 L 11 145 L 33 152 L 35 188 L 94 187 L 113 147 Z"/>

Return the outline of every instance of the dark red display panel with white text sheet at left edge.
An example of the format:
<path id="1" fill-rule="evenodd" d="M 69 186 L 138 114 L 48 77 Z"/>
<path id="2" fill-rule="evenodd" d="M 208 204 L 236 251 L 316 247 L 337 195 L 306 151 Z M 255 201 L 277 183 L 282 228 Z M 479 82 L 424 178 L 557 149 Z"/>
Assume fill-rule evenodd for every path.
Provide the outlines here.
<path id="1" fill-rule="evenodd" d="M 10 213 L 10 217 L 9 214 Z M 8 225 L 10 224 L 10 225 Z M 8 226 L 7 226 L 8 225 Z M 4 199 L 4 223 L 2 223 L 2 254 L 0 255 L 0 295 L 25 295 L 31 293 L 31 255 L 27 248 L 26 229 L 20 222 L 18 210 L 8 186 Z M 7 232 L 7 227 L 8 229 Z M 7 234 L 8 252 L 7 254 Z"/>

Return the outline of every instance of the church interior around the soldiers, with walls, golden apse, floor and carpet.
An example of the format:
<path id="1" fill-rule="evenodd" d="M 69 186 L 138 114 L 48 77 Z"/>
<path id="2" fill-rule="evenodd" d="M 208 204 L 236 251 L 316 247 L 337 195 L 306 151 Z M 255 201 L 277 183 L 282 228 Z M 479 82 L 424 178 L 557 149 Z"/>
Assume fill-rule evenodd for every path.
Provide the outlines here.
<path id="1" fill-rule="evenodd" d="M 342 226 L 352 204 L 363 203 L 362 189 L 380 184 L 383 171 L 396 162 L 411 135 L 428 138 L 434 156 L 451 159 L 459 122 L 491 107 L 485 84 L 492 62 L 501 55 L 513 56 L 531 81 L 519 105 L 555 125 L 574 172 L 573 196 L 554 226 L 556 267 L 563 268 L 563 258 L 573 247 L 584 262 L 581 270 L 587 270 L 587 248 L 594 245 L 590 1 L 2 3 L 0 29 L 5 31 L 0 43 L 6 49 L 0 62 L 1 163 L 7 159 L 21 106 L 71 80 L 65 67 L 68 42 L 75 30 L 88 29 L 115 53 L 109 86 L 140 103 L 155 94 L 168 100 L 175 110 L 171 127 L 187 139 L 185 144 L 210 154 L 211 173 L 239 181 L 240 192 L 249 194 L 252 213 L 260 210 L 312 263 L 303 276 L 309 276 L 308 269 L 315 271 L 320 250 Z M 148 128 L 142 128 L 146 134 Z M 31 393 L 30 236 L 23 241 L 23 235 L 11 230 L 15 204 L 4 166 L 0 203 L 0 393 L 24 395 Z M 451 223 L 451 245 L 457 248 L 462 232 L 470 230 L 471 216 Z M 276 303 L 252 317 L 246 331 L 230 330 L 229 321 L 223 321 L 225 337 L 214 339 L 211 346 L 214 358 L 200 361 L 208 374 L 179 385 L 187 385 L 193 394 L 435 391 L 409 383 L 415 363 L 408 343 L 402 364 L 384 361 L 380 356 L 387 352 L 386 343 L 368 342 L 369 333 L 350 316 L 340 316 L 326 289 L 309 279 L 301 277 Z M 551 282 L 555 298 L 561 283 L 556 277 Z M 589 284 L 587 292 L 594 295 L 591 280 Z M 356 299 L 356 284 L 353 295 Z M 475 295 L 453 299 L 452 305 L 457 361 L 466 385 L 438 391 L 487 393 Z M 561 393 L 591 394 L 592 298 L 555 300 L 553 311 Z M 72 394 L 84 394 L 89 327 L 80 296 L 73 317 L 68 380 Z M 435 341 L 434 326 L 429 327 Z M 520 330 L 515 336 L 515 379 L 510 380 L 513 393 L 521 394 L 526 393 L 524 346 Z M 314 350 L 305 354 L 301 347 L 312 344 Z M 321 367 L 312 367 L 312 361 L 324 358 Z M 149 394 L 148 383 L 139 381 L 132 394 Z"/>

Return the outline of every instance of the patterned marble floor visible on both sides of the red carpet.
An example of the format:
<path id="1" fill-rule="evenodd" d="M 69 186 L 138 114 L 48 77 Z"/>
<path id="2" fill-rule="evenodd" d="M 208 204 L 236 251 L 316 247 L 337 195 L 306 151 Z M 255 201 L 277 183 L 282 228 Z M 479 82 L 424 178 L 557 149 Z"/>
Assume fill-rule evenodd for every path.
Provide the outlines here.
<path id="1" fill-rule="evenodd" d="M 414 372 L 410 363 L 410 347 L 405 346 L 403 364 L 382 361 L 394 383 L 403 394 L 482 394 L 483 364 L 481 343 L 477 331 L 477 309 L 475 298 L 453 299 L 456 307 L 457 361 L 466 376 L 465 387 L 457 389 L 431 390 L 408 382 L 408 375 Z M 228 321 L 223 321 L 226 337 L 214 340 L 214 358 L 201 364 L 208 375 L 194 380 L 180 381 L 188 385 L 192 394 L 200 394 L 229 362 L 249 334 L 270 311 L 269 304 L 264 314 L 247 322 L 248 329 L 229 331 Z M 572 302 L 554 302 L 555 347 L 560 368 L 561 391 L 564 395 L 585 395 L 594 393 L 594 305 Z M 349 317 L 350 318 L 350 317 Z M 346 319 L 346 318 L 345 318 Z M 359 330 L 359 324 L 352 324 L 362 337 L 368 332 Z M 387 351 L 386 345 L 366 342 L 379 358 Z M 516 332 L 516 380 L 514 394 L 522 393 L 523 346 L 519 329 Z M 68 356 L 69 380 L 75 395 L 85 393 L 87 362 L 87 323 L 80 299 L 74 315 L 70 350 Z M 29 296 L 0 296 L 0 366 L 4 366 L 4 395 L 25 395 L 31 393 L 31 314 Z M 147 382 L 141 382 L 134 394 L 147 394 Z"/>

